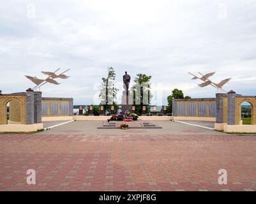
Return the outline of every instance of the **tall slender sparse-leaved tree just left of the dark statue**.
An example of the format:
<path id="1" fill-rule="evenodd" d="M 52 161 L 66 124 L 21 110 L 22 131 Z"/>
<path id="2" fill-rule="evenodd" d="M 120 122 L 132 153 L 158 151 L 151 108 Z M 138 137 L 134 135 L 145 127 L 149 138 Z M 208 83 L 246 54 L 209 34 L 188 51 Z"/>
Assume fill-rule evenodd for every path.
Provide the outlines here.
<path id="1" fill-rule="evenodd" d="M 114 87 L 114 80 L 116 79 L 116 71 L 114 68 L 108 68 L 107 78 L 102 78 L 102 85 L 100 89 L 99 97 L 102 99 L 101 105 L 104 106 L 104 110 L 109 112 L 110 106 L 114 105 L 116 99 L 116 94 L 118 89 Z"/>

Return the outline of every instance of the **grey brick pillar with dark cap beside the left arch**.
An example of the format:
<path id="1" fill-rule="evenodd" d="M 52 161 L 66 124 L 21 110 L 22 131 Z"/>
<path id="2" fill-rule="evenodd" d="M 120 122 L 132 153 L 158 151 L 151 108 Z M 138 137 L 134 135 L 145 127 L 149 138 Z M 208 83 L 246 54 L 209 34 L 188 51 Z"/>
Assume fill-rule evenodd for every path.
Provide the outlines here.
<path id="1" fill-rule="evenodd" d="M 26 124 L 34 124 L 34 91 L 26 91 Z"/>

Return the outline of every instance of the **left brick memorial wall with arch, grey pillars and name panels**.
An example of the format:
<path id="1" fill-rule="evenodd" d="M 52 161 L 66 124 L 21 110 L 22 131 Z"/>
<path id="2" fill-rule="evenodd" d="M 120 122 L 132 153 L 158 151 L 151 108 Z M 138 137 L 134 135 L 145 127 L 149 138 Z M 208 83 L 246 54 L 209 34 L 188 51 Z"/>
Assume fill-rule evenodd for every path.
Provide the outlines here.
<path id="1" fill-rule="evenodd" d="M 43 103 L 47 103 L 44 116 L 53 116 L 50 114 L 51 107 L 55 108 L 54 116 L 73 115 L 73 98 L 41 98 L 41 92 L 27 89 L 26 92 L 15 94 L 0 93 L 0 124 L 7 124 L 8 102 L 10 102 L 10 120 L 21 124 L 41 123 L 42 112 L 45 110 Z"/>

